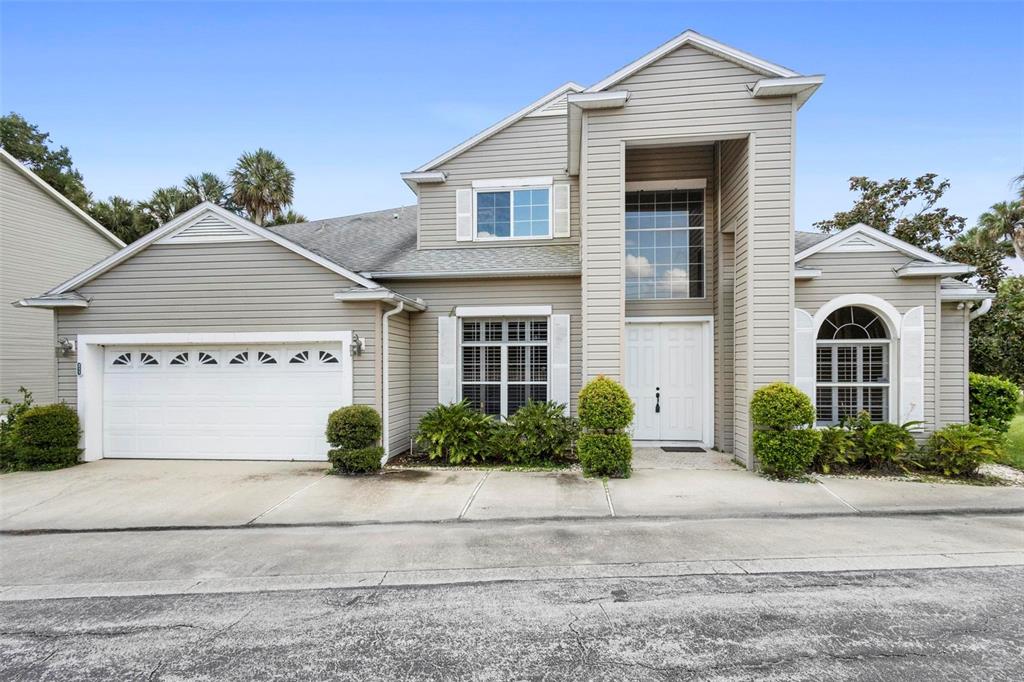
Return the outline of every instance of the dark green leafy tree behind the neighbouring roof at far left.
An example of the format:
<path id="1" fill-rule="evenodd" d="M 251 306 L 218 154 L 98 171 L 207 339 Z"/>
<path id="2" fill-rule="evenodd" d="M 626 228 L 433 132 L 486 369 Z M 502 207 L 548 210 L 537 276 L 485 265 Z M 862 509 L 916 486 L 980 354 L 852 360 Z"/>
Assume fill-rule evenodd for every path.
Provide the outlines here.
<path id="1" fill-rule="evenodd" d="M 50 148 L 50 134 L 39 130 L 39 126 L 13 112 L 0 117 L 0 146 L 73 204 L 88 208 L 91 197 L 82 174 L 72 163 L 71 153 L 67 146 Z"/>

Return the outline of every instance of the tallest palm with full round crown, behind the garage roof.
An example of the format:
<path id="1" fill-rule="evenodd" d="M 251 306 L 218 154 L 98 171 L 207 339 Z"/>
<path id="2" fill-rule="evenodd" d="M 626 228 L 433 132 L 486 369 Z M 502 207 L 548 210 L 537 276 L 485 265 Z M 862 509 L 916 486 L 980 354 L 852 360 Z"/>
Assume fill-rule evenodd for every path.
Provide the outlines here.
<path id="1" fill-rule="evenodd" d="M 295 174 L 285 162 L 267 150 L 244 153 L 230 171 L 231 200 L 245 209 L 257 225 L 268 216 L 280 214 L 292 205 Z"/>

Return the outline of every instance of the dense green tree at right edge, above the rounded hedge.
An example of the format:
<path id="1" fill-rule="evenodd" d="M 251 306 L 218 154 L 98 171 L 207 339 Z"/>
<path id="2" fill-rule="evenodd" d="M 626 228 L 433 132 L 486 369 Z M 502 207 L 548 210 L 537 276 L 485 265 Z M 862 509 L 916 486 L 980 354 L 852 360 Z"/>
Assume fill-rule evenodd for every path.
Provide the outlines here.
<path id="1" fill-rule="evenodd" d="M 1024 275 L 999 285 L 992 309 L 971 322 L 971 371 L 1024 385 Z"/>

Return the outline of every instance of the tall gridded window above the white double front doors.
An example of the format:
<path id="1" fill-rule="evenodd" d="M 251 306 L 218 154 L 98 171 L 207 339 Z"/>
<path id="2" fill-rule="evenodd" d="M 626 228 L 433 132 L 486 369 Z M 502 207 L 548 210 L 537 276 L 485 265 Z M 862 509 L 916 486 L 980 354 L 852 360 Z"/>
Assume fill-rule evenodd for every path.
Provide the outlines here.
<path id="1" fill-rule="evenodd" d="M 627 300 L 703 298 L 703 189 L 627 191 Z"/>

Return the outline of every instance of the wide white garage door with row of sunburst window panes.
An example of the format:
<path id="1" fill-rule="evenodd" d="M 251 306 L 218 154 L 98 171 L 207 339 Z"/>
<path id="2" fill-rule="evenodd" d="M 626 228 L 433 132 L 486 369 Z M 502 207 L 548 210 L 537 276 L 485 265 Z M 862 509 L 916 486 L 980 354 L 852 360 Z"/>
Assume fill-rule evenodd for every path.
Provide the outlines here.
<path id="1" fill-rule="evenodd" d="M 340 343 L 108 346 L 103 456 L 326 460 L 343 351 Z"/>

